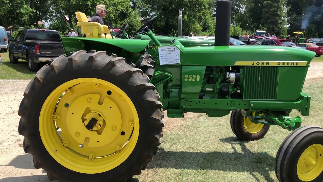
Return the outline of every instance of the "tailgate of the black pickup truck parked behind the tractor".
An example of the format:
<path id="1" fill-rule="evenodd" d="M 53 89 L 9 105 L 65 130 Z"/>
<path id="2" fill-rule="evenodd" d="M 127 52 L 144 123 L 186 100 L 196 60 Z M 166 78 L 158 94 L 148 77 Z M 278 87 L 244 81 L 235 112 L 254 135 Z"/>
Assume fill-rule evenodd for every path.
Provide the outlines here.
<path id="1" fill-rule="evenodd" d="M 61 42 L 39 42 L 40 56 L 60 56 L 64 54 L 64 49 Z"/>

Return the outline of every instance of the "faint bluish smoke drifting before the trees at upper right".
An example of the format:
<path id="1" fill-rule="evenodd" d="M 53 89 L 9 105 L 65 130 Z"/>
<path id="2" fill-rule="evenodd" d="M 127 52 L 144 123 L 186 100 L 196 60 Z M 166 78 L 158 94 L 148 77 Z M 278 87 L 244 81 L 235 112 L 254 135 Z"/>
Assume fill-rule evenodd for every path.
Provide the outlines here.
<path id="1" fill-rule="evenodd" d="M 302 29 L 307 28 L 309 21 L 323 18 L 323 5 L 310 5 L 304 14 L 302 19 Z"/>

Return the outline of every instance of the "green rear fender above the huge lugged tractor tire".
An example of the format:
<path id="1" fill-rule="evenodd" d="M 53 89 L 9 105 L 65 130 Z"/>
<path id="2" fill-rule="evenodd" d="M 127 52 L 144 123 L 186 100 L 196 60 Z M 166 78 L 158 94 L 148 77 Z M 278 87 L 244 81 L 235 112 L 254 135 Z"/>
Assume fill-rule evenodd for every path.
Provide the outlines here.
<path id="1" fill-rule="evenodd" d="M 66 55 L 80 50 L 107 51 L 124 57 L 136 63 L 141 54 L 145 53 L 151 40 L 137 39 L 97 39 L 97 38 L 72 38 L 62 37 L 61 42 Z"/>

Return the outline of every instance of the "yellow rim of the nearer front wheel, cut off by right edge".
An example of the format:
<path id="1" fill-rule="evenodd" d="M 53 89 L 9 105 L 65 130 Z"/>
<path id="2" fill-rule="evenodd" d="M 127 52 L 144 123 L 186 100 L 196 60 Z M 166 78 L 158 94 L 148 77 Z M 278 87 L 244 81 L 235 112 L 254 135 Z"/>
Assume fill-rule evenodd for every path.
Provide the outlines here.
<path id="1" fill-rule="evenodd" d="M 312 181 L 323 171 L 323 146 L 313 144 L 309 146 L 297 162 L 297 175 L 302 181 Z"/>

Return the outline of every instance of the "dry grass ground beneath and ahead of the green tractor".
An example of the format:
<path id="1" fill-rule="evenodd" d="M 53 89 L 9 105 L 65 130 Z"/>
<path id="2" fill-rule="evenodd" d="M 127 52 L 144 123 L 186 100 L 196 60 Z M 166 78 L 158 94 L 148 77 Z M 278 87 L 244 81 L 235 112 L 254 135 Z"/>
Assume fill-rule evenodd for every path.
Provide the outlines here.
<path id="1" fill-rule="evenodd" d="M 311 107 L 310 116 L 302 116 L 302 126 L 323 127 L 323 80 L 307 82 L 303 92 L 311 96 Z M 297 115 L 297 111 L 291 114 Z M 276 152 L 290 131 L 271 126 L 263 139 L 240 142 L 231 131 L 229 117 L 199 114 L 165 121 L 159 152 L 133 181 L 277 182 Z"/>

